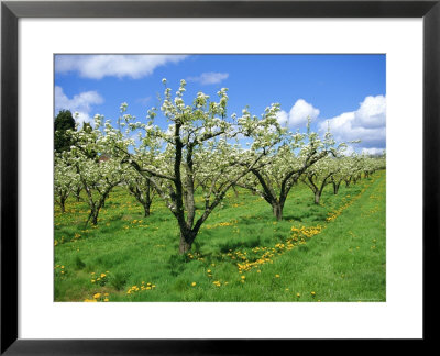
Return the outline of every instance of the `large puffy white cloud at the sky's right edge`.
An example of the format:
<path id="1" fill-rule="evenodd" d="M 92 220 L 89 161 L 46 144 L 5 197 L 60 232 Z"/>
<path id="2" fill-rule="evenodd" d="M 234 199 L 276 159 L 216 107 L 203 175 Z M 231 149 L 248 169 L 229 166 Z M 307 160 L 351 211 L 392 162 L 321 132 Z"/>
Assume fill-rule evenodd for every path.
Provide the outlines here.
<path id="1" fill-rule="evenodd" d="M 383 149 L 386 145 L 386 98 L 366 97 L 356 111 L 321 122 L 320 131 L 327 131 L 328 125 L 338 142 L 361 140 L 359 147 L 362 149 Z"/>

